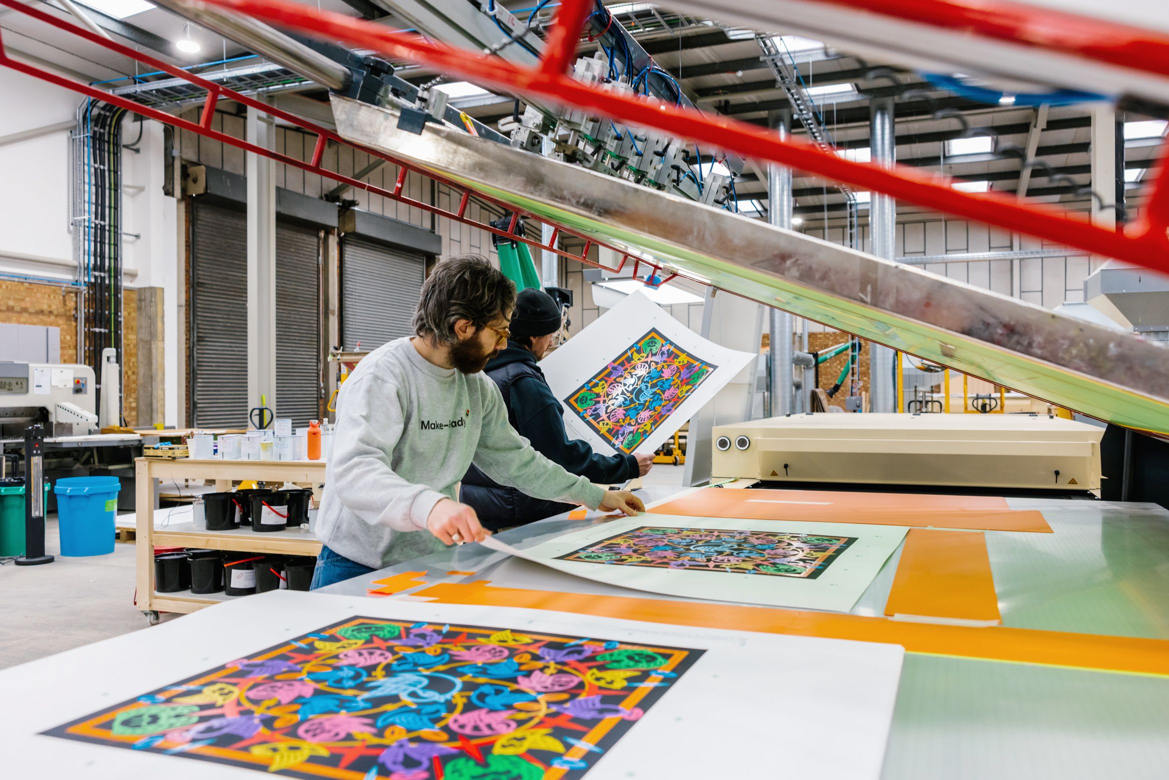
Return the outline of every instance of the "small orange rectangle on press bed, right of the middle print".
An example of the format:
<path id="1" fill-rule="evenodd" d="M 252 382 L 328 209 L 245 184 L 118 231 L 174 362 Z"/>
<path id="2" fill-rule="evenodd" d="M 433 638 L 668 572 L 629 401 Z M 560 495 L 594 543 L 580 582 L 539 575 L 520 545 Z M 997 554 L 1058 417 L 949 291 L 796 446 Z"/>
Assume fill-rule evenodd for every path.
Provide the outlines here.
<path id="1" fill-rule="evenodd" d="M 912 529 L 885 614 L 998 622 L 985 534 Z"/>

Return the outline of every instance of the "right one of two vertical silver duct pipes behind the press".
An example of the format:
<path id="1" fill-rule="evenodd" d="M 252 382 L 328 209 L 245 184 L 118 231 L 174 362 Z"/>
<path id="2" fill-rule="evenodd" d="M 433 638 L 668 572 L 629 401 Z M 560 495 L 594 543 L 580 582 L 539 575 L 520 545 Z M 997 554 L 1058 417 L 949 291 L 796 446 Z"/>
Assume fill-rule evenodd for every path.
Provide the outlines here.
<path id="1" fill-rule="evenodd" d="M 893 101 L 878 99 L 869 106 L 869 145 L 872 161 L 892 167 L 897 157 L 894 144 Z M 897 202 L 891 195 L 874 192 L 869 203 L 869 233 L 871 251 L 878 257 L 893 260 L 897 237 Z M 869 345 L 870 393 L 873 412 L 894 412 L 897 408 L 897 379 L 893 375 L 893 350 L 879 344 Z"/>

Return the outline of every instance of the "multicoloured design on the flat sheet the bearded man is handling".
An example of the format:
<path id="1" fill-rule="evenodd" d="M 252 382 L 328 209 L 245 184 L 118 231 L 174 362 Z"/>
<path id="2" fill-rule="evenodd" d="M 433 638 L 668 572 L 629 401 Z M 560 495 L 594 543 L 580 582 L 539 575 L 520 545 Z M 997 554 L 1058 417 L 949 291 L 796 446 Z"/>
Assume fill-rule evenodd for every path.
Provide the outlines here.
<path id="1" fill-rule="evenodd" d="M 762 577 L 819 577 L 855 537 L 645 525 L 602 539 L 558 560 Z"/>

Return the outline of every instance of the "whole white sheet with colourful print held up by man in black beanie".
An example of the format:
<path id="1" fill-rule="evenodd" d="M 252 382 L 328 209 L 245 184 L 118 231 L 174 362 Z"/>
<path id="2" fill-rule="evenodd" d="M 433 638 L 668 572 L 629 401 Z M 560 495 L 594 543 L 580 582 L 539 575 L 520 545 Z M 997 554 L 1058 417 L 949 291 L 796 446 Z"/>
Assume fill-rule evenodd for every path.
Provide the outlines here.
<path id="1" fill-rule="evenodd" d="M 602 453 L 652 453 L 754 358 L 704 339 L 634 292 L 540 370 L 570 437 Z"/>

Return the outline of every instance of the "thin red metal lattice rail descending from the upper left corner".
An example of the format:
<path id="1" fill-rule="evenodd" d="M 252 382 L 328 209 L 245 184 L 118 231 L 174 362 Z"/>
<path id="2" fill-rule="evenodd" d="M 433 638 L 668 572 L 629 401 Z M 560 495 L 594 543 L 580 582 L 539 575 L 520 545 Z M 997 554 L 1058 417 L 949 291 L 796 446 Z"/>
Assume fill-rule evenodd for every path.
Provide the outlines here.
<path id="1" fill-rule="evenodd" d="M 51 15 L 44 13 L 43 11 L 40 11 L 39 8 L 25 6 L 25 5 L 20 4 L 20 2 L 16 2 L 15 0 L 0 0 L 0 6 L 7 6 L 8 8 L 12 8 L 13 11 L 18 11 L 20 13 L 25 13 L 25 14 L 27 14 L 27 15 L 29 15 L 29 16 L 39 20 L 39 21 L 43 21 L 43 22 L 46 22 L 48 25 L 51 25 L 53 27 L 56 27 L 58 29 L 62 29 L 62 30 L 65 30 L 65 32 L 69 32 L 69 33 L 74 33 L 76 35 L 78 35 L 79 37 L 83 37 L 83 39 L 85 39 L 85 40 L 88 40 L 88 41 L 90 41 L 92 43 L 97 43 L 98 46 L 103 46 L 103 47 L 105 47 L 105 48 L 108 48 L 108 49 L 110 49 L 112 51 L 116 51 L 116 53 L 118 53 L 120 55 L 124 55 L 126 57 L 131 57 L 131 58 L 137 60 L 137 61 L 139 61 L 139 62 L 141 62 L 144 64 L 147 64 L 147 65 L 150 65 L 151 68 L 153 68 L 155 70 L 161 70 L 161 71 L 165 71 L 165 73 L 172 75 L 172 76 L 177 76 L 179 78 L 184 78 L 184 80 L 191 82 L 192 84 L 195 84 L 198 87 L 201 87 L 201 88 L 206 89 L 207 90 L 207 97 L 203 99 L 203 105 L 202 105 L 202 110 L 201 110 L 201 115 L 200 115 L 199 122 L 198 123 L 191 122 L 188 119 L 184 119 L 181 117 L 177 117 L 177 116 L 166 113 L 165 111 L 159 111 L 158 109 L 143 105 L 143 104 L 137 103 L 137 102 L 134 102 L 132 99 L 129 99 L 129 98 L 125 98 L 125 97 L 122 97 L 122 96 L 118 96 L 118 95 L 111 95 L 110 92 L 106 92 L 104 90 L 97 89 L 97 88 L 91 87 L 89 84 L 83 84 L 82 82 L 77 82 L 77 81 L 74 81 L 71 78 L 67 78 L 67 77 L 61 76 L 58 74 L 51 73 L 49 70 L 44 70 L 44 69 L 37 68 L 35 65 L 30 65 L 30 64 L 25 63 L 25 62 L 20 62 L 18 60 L 13 60 L 12 57 L 8 56 L 8 53 L 5 49 L 5 47 L 4 47 L 2 34 L 0 34 L 0 65 L 7 65 L 8 68 L 12 68 L 13 70 L 22 73 L 25 75 L 33 76 L 33 77 L 40 78 L 42 81 L 47 81 L 47 82 L 49 82 L 51 84 L 55 84 L 57 87 L 62 87 L 64 89 L 72 90 L 75 92 L 79 92 L 79 94 L 85 95 L 87 97 L 94 98 L 96 101 L 103 101 L 105 103 L 110 103 L 112 105 L 117 105 L 117 106 L 126 109 L 129 111 L 134 111 L 134 112 L 140 113 L 140 115 L 143 115 L 145 117 L 148 117 L 151 119 L 155 119 L 158 122 L 161 122 L 164 124 L 168 124 L 168 125 L 172 125 L 174 127 L 179 127 L 181 130 L 189 130 L 191 132 L 198 133 L 198 134 L 203 136 L 206 138 L 210 138 L 213 140 L 217 140 L 217 141 L 223 143 L 223 144 L 229 144 L 231 146 L 242 149 L 242 150 L 244 150 L 247 152 L 253 152 L 255 154 L 260 154 L 262 157 L 267 157 L 267 158 L 274 159 L 274 160 L 276 160 L 278 163 L 283 163 L 285 165 L 291 165 L 292 167 L 300 168 L 302 171 L 307 171 L 309 173 L 316 173 L 316 174 L 325 177 L 327 179 L 332 179 L 333 181 L 344 182 L 344 184 L 347 184 L 347 185 L 350 185 L 352 187 L 365 189 L 365 191 L 371 192 L 373 194 L 381 195 L 382 198 L 388 198 L 390 200 L 394 200 L 394 201 L 397 201 L 397 202 L 402 202 L 402 203 L 406 203 L 408 206 L 413 206 L 415 208 L 420 208 L 420 209 L 422 209 L 424 212 L 429 212 L 429 213 L 436 214 L 438 216 L 443 216 L 443 218 L 447 218 L 447 219 L 450 219 L 450 220 L 455 220 L 456 222 L 462 222 L 463 225 L 469 225 L 469 226 L 472 226 L 472 227 L 477 227 L 477 228 L 479 228 L 482 230 L 487 230 L 489 233 L 492 233 L 492 234 L 498 235 L 498 236 L 503 236 L 503 237 L 509 239 L 511 241 L 519 241 L 519 242 L 530 244 L 530 246 L 532 246 L 532 247 L 534 247 L 537 249 L 553 251 L 556 255 L 560 255 L 562 257 L 567 257 L 569 260 L 575 260 L 575 261 L 584 263 L 587 265 L 593 265 L 595 268 L 603 268 L 604 270 L 614 271 L 614 272 L 620 271 L 625 265 L 625 260 L 628 258 L 628 255 L 625 255 L 625 253 L 623 250 L 617 249 L 616 247 L 610 247 L 609 244 L 603 244 L 603 243 L 600 243 L 600 242 L 597 242 L 595 240 L 587 239 L 587 237 L 584 237 L 584 236 L 582 236 L 582 235 L 580 235 L 580 234 L 577 234 L 577 233 L 575 233 L 573 230 L 569 230 L 568 228 L 565 228 L 562 226 L 558 226 L 558 225 L 555 225 L 553 222 L 547 222 L 545 220 L 541 220 L 540 218 L 537 218 L 533 214 L 517 212 L 512 206 L 510 206 L 507 203 L 503 203 L 503 202 L 500 202 L 500 201 L 498 201 L 498 200 L 496 200 L 496 199 L 493 199 L 493 198 L 491 198 L 489 195 L 484 195 L 484 194 L 482 194 L 479 192 L 472 192 L 470 189 L 466 189 L 465 187 L 462 187 L 462 186 L 459 186 L 459 185 L 457 185 L 457 184 L 455 184 L 455 182 L 452 182 L 452 181 L 450 181 L 448 179 L 444 179 L 442 177 L 435 175 L 435 174 L 433 174 L 433 173 L 430 173 L 428 171 L 422 171 L 421 168 L 417 168 L 416 166 L 409 165 L 409 164 L 407 164 L 407 163 L 404 163 L 404 161 L 402 161 L 402 160 L 400 160 L 400 159 L 397 159 L 397 158 L 395 158 L 395 157 L 393 157 L 390 154 L 386 154 L 385 152 L 380 152 L 380 151 L 374 150 L 374 149 L 368 149 L 368 147 L 365 147 L 365 146 L 360 146 L 358 144 L 352 144 L 352 143 L 345 140 L 344 138 L 341 138 L 340 136 L 338 136 L 337 133 L 334 133 L 334 132 L 332 132 L 332 131 L 330 131 L 330 130 L 327 130 L 325 127 L 321 127 L 319 125 L 316 125 L 316 124 L 313 124 L 311 122 L 302 119 L 300 117 L 297 117 L 296 115 L 289 113 L 286 111 L 282 111 L 281 109 L 277 109 L 277 108 L 275 108 L 272 105 L 269 105 L 267 103 L 262 103 L 260 101 L 256 101 L 255 98 L 248 97 L 247 95 L 241 95 L 241 94 L 238 94 L 238 92 L 236 92 L 234 90 L 227 89 L 226 87 L 223 87 L 221 84 L 217 84 L 215 82 L 209 82 L 209 81 L 206 81 L 203 78 L 200 78 L 199 76 L 196 76 L 194 74 L 187 73 L 186 70 L 182 70 L 180 68 L 175 68 L 174 65 L 171 65 L 171 64 L 168 64 L 166 62 L 162 62 L 161 60 L 155 60 L 154 57 L 145 55 L 145 54 L 143 54 L 140 51 L 137 51 L 134 49 L 130 49 L 129 47 L 122 46 L 120 43 L 118 43 L 116 41 L 111 41 L 111 40 L 101 37 L 98 35 L 95 35 L 94 33 L 91 33 L 88 29 L 83 29 L 81 27 L 76 27 L 74 25 L 70 25 L 69 22 L 67 22 L 64 20 L 57 19 L 55 16 L 51 16 Z M 223 133 L 221 131 L 213 130 L 212 129 L 212 120 L 215 117 L 215 106 L 216 106 L 216 104 L 219 103 L 220 99 L 236 101 L 237 103 L 242 103 L 243 105 L 251 106 L 251 108 L 257 109 L 260 111 L 263 111 L 263 112 L 265 112 L 265 113 L 268 113 L 268 115 L 270 115 L 272 117 L 277 117 L 277 118 L 284 119 L 285 122 L 289 122 L 290 124 L 293 124 L 293 125 L 300 127 L 302 130 L 306 130 L 306 131 L 309 131 L 311 133 L 314 133 L 317 136 L 317 141 L 316 141 L 316 145 L 313 146 L 311 160 L 309 163 L 305 163 L 304 160 L 298 160 L 298 159 L 296 159 L 293 157 L 290 157 L 288 154 L 283 154 L 283 153 L 276 152 L 274 150 L 264 149 L 262 146 L 257 146 L 255 144 L 251 144 L 251 143 L 249 143 L 247 140 L 242 140 L 242 139 L 236 138 L 234 136 L 229 136 L 229 134 Z M 396 165 L 399 167 L 399 171 L 397 171 L 397 177 L 394 180 L 394 188 L 392 191 L 390 189 L 385 189 L 382 187 L 374 186 L 374 185 L 368 184 L 366 181 L 361 181 L 359 179 L 354 179 L 352 177 L 347 177 L 347 175 L 345 175 L 343 173 L 338 173 L 336 171 L 330 171 L 330 170 L 325 168 L 321 165 L 321 158 L 324 157 L 325 149 L 327 147 L 328 141 L 333 141 L 333 143 L 338 144 L 339 146 L 348 146 L 348 147 L 352 147 L 352 149 L 358 149 L 358 150 L 360 150 L 362 152 L 366 152 L 367 154 L 372 154 L 373 157 L 381 158 L 381 159 L 386 160 L 387 163 L 392 163 L 392 164 Z M 452 192 L 461 193 L 459 196 L 458 196 L 458 208 L 456 210 L 449 210 L 449 209 L 440 208 L 437 205 L 427 203 L 426 201 L 421 201 L 421 200 L 410 198 L 409 195 L 402 194 L 402 191 L 403 191 L 404 185 L 406 185 L 406 175 L 410 171 L 417 173 L 419 175 L 421 175 L 423 178 L 434 179 L 435 181 L 450 187 Z M 507 226 L 507 229 L 506 230 L 502 230 L 499 228 L 492 227 L 491 225 L 489 225 L 486 222 L 480 222 L 478 220 L 472 220 L 471 218 L 466 216 L 466 208 L 468 208 L 468 206 L 471 202 L 471 196 L 472 195 L 476 199 L 480 200 L 480 201 L 485 201 L 485 202 L 492 203 L 494 206 L 498 206 L 499 208 L 503 208 L 505 212 L 511 212 L 512 213 L 512 219 L 511 219 L 511 222 Z M 544 244 L 539 240 L 528 239 L 528 237 L 525 237 L 525 236 L 517 235 L 516 234 L 516 228 L 517 228 L 517 225 L 519 222 L 519 218 L 520 216 L 524 216 L 525 219 L 531 220 L 531 221 L 537 222 L 537 223 L 541 223 L 542 222 L 542 223 L 549 225 L 553 228 L 551 241 L 547 244 Z M 528 229 L 531 230 L 531 228 L 528 228 Z M 540 232 L 535 230 L 533 233 L 538 234 Z M 577 254 L 573 254 L 570 251 L 565 251 L 563 249 L 560 249 L 558 247 L 558 243 L 559 243 L 558 239 L 559 239 L 559 236 L 560 236 L 561 233 L 575 236 L 575 237 L 577 237 L 577 239 L 580 239 L 581 241 L 584 242 L 584 249 L 581 251 L 581 254 L 577 255 Z M 608 268 L 607 265 L 603 265 L 601 263 L 597 263 L 597 262 L 594 262 L 594 261 L 589 260 L 588 258 L 588 251 L 593 247 L 593 244 L 603 246 L 607 249 L 611 249 L 613 251 L 615 251 L 618 255 L 621 255 L 622 260 L 621 260 L 621 263 L 617 265 L 617 268 Z M 662 270 L 660 265 L 657 265 L 655 263 L 650 263 L 649 261 L 644 261 L 643 260 L 641 262 L 644 263 L 644 264 L 646 264 L 646 265 L 649 265 L 649 267 L 651 267 L 653 269 L 653 274 L 658 274 Z M 636 276 L 636 268 L 637 268 L 637 265 L 635 264 L 635 276 Z M 673 278 L 675 276 L 677 276 L 677 275 L 670 276 L 669 278 Z"/>

